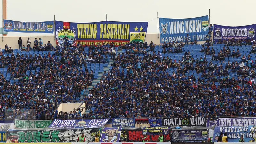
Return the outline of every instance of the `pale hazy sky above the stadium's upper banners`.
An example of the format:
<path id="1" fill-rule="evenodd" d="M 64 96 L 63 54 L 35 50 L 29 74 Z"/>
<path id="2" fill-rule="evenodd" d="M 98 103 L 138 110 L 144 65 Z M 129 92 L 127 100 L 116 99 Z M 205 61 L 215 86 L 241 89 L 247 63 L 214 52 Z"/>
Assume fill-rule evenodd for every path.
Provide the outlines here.
<path id="1" fill-rule="evenodd" d="M 256 23 L 255 4 L 256 0 L 7 0 L 7 19 L 50 21 L 55 14 L 55 20 L 59 21 L 97 22 L 105 21 L 107 13 L 108 21 L 148 21 L 147 32 L 157 33 L 157 12 L 164 18 L 192 18 L 208 15 L 211 9 L 210 23 L 242 26 Z M 8 36 L 33 35 L 51 34 L 8 33 Z"/>

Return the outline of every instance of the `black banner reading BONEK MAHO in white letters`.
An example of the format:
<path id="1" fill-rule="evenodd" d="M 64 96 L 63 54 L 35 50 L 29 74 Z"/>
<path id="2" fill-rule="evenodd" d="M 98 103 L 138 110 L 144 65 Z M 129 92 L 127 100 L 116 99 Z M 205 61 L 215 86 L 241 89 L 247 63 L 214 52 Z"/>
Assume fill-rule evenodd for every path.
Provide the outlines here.
<path id="1" fill-rule="evenodd" d="M 162 126 L 203 126 L 206 127 L 205 117 L 182 117 L 182 118 L 163 118 Z"/>

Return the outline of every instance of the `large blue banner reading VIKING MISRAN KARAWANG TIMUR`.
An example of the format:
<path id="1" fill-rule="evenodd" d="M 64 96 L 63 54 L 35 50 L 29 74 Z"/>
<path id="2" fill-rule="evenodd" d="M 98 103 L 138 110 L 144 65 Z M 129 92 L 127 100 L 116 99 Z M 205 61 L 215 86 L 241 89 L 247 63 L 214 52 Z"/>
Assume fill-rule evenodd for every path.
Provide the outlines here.
<path id="1" fill-rule="evenodd" d="M 208 15 L 188 18 L 188 19 L 169 19 L 159 18 L 160 44 L 164 42 L 180 42 L 186 41 L 188 34 L 188 42 L 205 41 L 209 32 Z"/>

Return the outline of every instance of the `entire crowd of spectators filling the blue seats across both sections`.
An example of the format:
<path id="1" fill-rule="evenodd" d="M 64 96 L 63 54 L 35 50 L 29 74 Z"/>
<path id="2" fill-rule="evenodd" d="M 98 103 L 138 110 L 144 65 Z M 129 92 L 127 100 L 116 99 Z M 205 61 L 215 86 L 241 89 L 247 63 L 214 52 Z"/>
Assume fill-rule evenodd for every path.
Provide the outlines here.
<path id="1" fill-rule="evenodd" d="M 0 52 L 1 119 L 255 116 L 255 40 L 53 46 Z M 220 49 L 221 45 L 221 49 Z M 117 52 L 117 49 L 122 51 Z M 249 49 L 249 50 L 248 50 Z M 241 52 L 243 53 L 241 53 Z M 109 63 L 92 85 L 88 63 Z M 89 68 L 89 69 L 88 69 Z M 92 85 L 89 94 L 85 93 Z M 58 112 L 61 101 L 85 109 Z M 85 110 L 90 112 L 84 114 Z"/>

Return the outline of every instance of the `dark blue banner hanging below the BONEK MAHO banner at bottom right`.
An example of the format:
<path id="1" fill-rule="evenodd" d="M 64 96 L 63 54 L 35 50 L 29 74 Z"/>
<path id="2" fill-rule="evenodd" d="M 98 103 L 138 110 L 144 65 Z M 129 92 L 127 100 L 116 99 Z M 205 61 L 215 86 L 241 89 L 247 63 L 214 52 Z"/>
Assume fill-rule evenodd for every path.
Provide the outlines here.
<path id="1" fill-rule="evenodd" d="M 183 130 L 183 129 L 173 129 L 173 136 L 175 140 L 207 140 L 208 131 L 193 129 L 193 130 Z"/>

